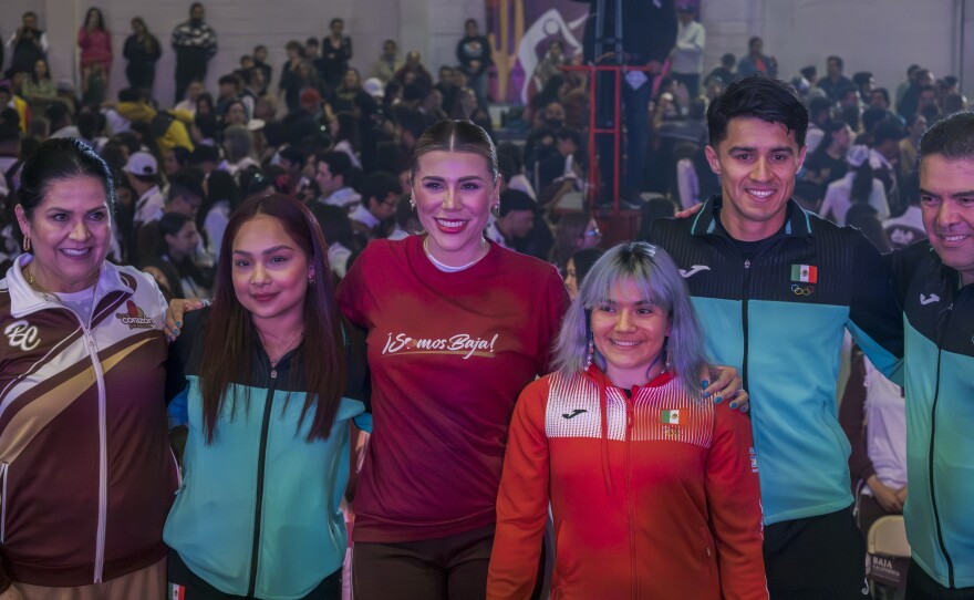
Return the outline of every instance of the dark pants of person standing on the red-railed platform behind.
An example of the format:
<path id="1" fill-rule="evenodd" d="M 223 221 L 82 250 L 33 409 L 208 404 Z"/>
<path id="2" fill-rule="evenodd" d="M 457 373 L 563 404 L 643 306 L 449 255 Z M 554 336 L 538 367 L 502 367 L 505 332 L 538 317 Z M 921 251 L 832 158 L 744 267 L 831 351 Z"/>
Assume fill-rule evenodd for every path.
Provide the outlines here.
<path id="1" fill-rule="evenodd" d="M 602 128 L 612 127 L 613 115 L 613 89 L 614 75 L 612 73 L 600 73 L 597 75 L 599 80 L 597 122 Z M 646 159 L 646 147 L 650 143 L 650 116 L 649 104 L 650 96 L 653 94 L 653 75 L 646 73 L 647 81 L 633 89 L 620 75 L 620 100 L 622 101 L 621 122 L 625 132 L 624 153 L 620 156 L 625 157 L 625 168 L 620 174 L 620 194 L 623 198 L 636 200 L 643 187 L 643 165 Z M 622 142 L 622 139 L 620 139 Z M 599 174 L 602 182 L 600 193 L 600 204 L 612 203 L 612 174 L 615 165 L 615 155 L 613 152 L 612 136 L 600 134 L 595 139 L 597 152 L 599 153 Z"/>

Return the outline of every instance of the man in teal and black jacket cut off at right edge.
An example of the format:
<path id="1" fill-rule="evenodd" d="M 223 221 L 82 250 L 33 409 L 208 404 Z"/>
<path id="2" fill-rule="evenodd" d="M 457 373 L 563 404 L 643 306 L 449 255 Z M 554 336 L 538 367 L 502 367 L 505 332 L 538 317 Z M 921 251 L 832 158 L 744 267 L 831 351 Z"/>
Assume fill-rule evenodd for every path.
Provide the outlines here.
<path id="1" fill-rule="evenodd" d="M 906 596 L 972 599 L 974 113 L 931 127 L 920 155 L 929 240 L 891 255 L 905 329 Z"/>

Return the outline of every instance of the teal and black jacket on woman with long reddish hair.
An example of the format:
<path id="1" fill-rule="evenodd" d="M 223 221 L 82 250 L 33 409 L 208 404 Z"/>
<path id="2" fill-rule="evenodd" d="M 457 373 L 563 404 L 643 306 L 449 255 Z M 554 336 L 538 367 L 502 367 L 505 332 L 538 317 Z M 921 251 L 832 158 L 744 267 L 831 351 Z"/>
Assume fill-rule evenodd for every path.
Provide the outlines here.
<path id="1" fill-rule="evenodd" d="M 207 444 L 199 389 L 205 324 L 198 315 L 205 321 L 204 311 L 187 315 L 170 360 L 177 377 L 183 365 L 188 385 L 169 412 L 185 403 L 189 427 L 183 485 L 163 534 L 175 552 L 170 572 L 188 568 L 239 597 L 304 598 L 341 568 L 348 549 L 339 503 L 349 479 L 349 424 L 372 430 L 364 337 L 344 324 L 345 394 L 328 438 L 309 442 L 312 414 L 300 420 L 307 349 L 299 345 L 272 370 L 253 332 L 252 373 L 227 391 L 234 400 L 225 403 Z"/>

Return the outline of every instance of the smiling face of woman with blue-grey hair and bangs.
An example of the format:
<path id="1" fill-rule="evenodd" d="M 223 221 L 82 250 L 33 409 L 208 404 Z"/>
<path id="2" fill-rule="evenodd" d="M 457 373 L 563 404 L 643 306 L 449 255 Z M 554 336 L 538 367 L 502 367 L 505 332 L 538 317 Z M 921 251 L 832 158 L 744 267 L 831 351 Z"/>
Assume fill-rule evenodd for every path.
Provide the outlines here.
<path id="1" fill-rule="evenodd" d="M 609 380 L 632 387 L 661 373 L 670 325 L 666 311 L 645 299 L 635 281 L 616 281 L 609 298 L 592 308 L 592 337 Z"/>

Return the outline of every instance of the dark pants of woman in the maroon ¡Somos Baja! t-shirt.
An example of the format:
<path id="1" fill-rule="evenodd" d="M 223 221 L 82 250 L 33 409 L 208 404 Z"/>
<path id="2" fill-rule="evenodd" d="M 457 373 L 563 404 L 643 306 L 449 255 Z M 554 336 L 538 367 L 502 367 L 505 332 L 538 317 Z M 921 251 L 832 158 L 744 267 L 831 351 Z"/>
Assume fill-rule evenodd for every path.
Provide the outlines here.
<path id="1" fill-rule="evenodd" d="M 355 600 L 480 600 L 487 596 L 493 547 L 493 525 L 419 541 L 356 541 L 352 548 Z"/>

